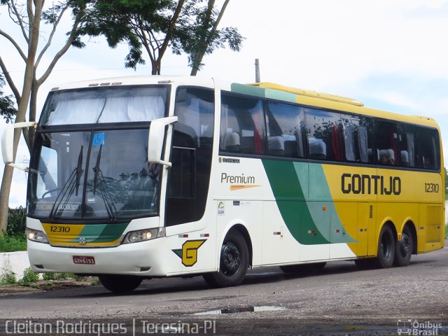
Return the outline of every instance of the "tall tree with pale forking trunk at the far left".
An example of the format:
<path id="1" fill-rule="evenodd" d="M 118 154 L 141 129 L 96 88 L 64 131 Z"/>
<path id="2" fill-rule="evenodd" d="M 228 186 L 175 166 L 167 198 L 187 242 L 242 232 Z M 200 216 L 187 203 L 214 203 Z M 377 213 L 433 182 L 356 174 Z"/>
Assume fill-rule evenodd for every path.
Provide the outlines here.
<path id="1" fill-rule="evenodd" d="M 44 9 L 45 0 L 28 0 L 20 3 L 16 0 L 0 0 L 1 5 L 8 8 L 8 14 L 11 20 L 15 22 L 22 32 L 22 38 L 25 40 L 27 49 L 20 47 L 20 41 L 16 41 L 13 36 L 0 28 L 0 37 L 3 37 L 13 45 L 18 52 L 18 59 L 22 59 L 25 64 L 25 75 L 23 78 L 22 90 L 15 85 L 13 78 L 10 76 L 8 66 L 0 56 L 0 69 L 5 76 L 6 83 L 8 83 L 10 90 L 13 92 L 15 101 L 17 102 L 18 111 L 15 116 L 15 122 L 20 123 L 27 120 L 27 111 L 29 111 L 29 121 L 36 121 L 36 102 L 37 93 L 42 83 L 50 76 L 52 69 L 69 49 L 71 45 L 78 48 L 83 47 L 83 43 L 78 38 L 77 31 L 82 25 L 82 19 L 85 10 L 85 1 L 83 0 L 64 0 L 57 3 L 52 3 L 48 9 Z M 47 69 L 43 72 L 40 78 L 36 77 L 37 69 L 41 63 L 45 52 L 48 51 L 52 43 L 53 36 L 62 20 L 66 11 L 71 9 L 73 25 L 71 30 L 67 33 L 66 39 L 62 48 L 53 56 Z M 43 24 L 42 24 L 43 21 Z M 47 37 L 46 43 L 39 49 L 39 41 L 42 34 L 43 25 L 51 27 L 50 34 Z M 29 150 L 31 151 L 32 141 L 34 138 L 34 130 L 23 130 L 23 136 Z M 20 130 L 16 129 L 14 134 L 14 155 L 17 152 L 20 139 Z M 0 193 L 0 235 L 3 230 L 6 230 L 8 221 L 8 200 L 10 194 L 11 181 L 13 179 L 13 168 L 5 166 L 3 172 L 3 179 L 1 181 Z"/>

